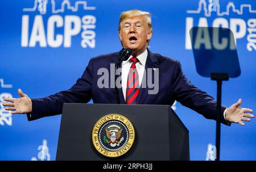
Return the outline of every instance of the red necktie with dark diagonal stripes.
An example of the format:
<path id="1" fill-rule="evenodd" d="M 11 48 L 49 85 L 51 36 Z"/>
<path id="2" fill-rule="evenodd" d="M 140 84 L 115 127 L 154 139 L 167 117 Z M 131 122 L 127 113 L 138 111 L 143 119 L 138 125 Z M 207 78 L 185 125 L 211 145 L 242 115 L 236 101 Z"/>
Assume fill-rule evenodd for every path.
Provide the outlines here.
<path id="1" fill-rule="evenodd" d="M 136 69 L 135 64 L 139 61 L 136 57 L 131 57 L 130 61 L 131 68 L 127 77 L 127 88 L 126 88 L 126 103 L 127 104 L 136 104 L 137 98 L 139 95 L 139 75 Z"/>

